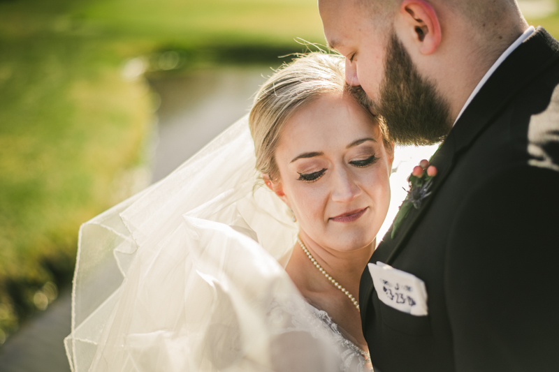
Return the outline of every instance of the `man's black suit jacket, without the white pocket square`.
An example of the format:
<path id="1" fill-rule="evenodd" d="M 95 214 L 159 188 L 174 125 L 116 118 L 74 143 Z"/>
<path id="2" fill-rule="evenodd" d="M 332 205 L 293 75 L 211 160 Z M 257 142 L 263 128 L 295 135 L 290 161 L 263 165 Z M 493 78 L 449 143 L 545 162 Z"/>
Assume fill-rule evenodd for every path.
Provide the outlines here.
<path id="1" fill-rule="evenodd" d="M 495 70 L 433 156 L 433 194 L 370 262 L 426 283 L 428 315 L 359 302 L 375 371 L 559 371 L 559 43 Z"/>

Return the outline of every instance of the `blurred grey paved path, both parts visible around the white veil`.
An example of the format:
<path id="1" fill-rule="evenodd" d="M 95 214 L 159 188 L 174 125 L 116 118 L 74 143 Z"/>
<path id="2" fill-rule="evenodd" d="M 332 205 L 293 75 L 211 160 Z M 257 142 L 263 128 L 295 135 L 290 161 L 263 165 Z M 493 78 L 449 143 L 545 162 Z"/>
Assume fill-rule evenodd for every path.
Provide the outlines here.
<path id="1" fill-rule="evenodd" d="M 270 75 L 266 68 L 205 70 L 152 81 L 161 96 L 153 181 L 163 178 L 245 113 Z M 0 372 L 70 372 L 64 337 L 70 333 L 71 292 L 26 322 L 0 348 Z"/>

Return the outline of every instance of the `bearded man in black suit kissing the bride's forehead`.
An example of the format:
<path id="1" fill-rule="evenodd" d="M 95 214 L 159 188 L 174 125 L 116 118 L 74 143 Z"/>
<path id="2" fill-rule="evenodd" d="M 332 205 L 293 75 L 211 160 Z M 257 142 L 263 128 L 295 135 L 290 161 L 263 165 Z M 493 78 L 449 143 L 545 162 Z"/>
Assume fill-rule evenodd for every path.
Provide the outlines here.
<path id="1" fill-rule="evenodd" d="M 392 139 L 444 139 L 361 278 L 375 371 L 559 371 L 558 41 L 514 0 L 319 10 Z"/>

